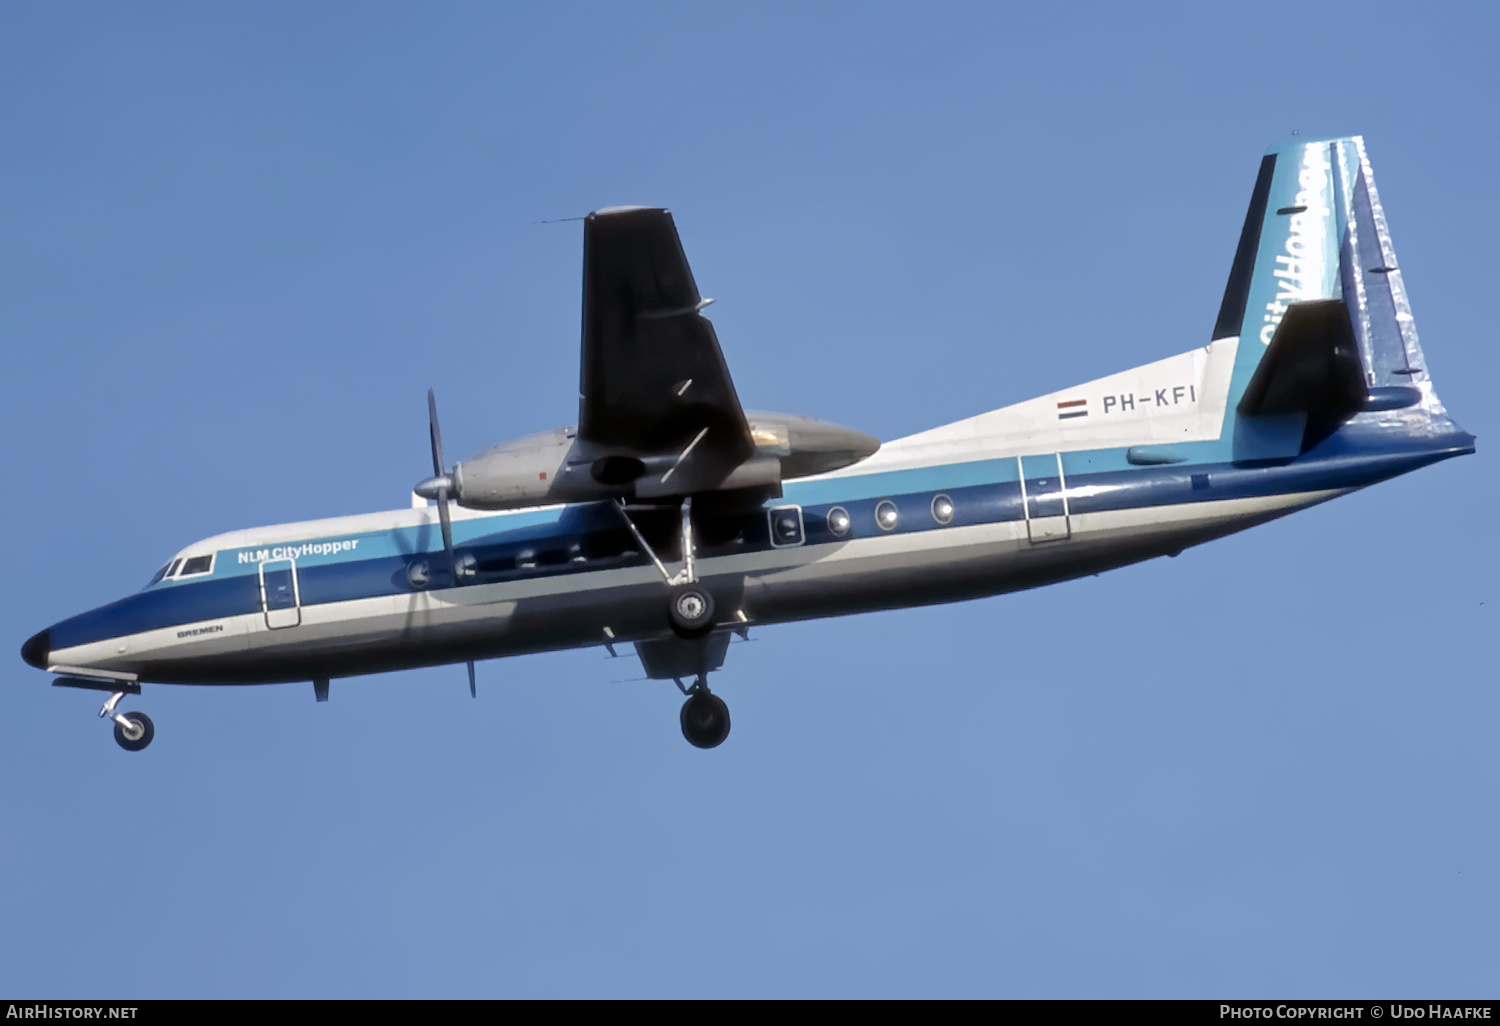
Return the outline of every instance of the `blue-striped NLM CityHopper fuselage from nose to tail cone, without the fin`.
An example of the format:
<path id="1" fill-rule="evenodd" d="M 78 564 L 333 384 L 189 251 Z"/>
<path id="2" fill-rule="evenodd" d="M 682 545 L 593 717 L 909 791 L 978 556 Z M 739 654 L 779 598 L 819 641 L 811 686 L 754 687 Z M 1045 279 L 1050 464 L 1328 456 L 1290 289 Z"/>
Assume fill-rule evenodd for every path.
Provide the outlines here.
<path id="1" fill-rule="evenodd" d="M 896 442 L 720 525 L 698 543 L 698 574 L 729 624 L 1032 588 L 1473 452 L 1456 428 L 1413 438 L 1406 420 L 1362 414 L 1308 453 L 1256 462 L 1136 465 L 1114 447 L 882 470 L 898 462 Z M 680 556 L 669 528 L 663 558 Z M 40 634 L 40 662 L 160 682 L 308 681 L 669 630 L 662 578 L 609 502 L 456 510 L 453 542 L 470 567 L 456 580 L 435 508 L 207 538 L 168 564 L 172 576 Z"/>

